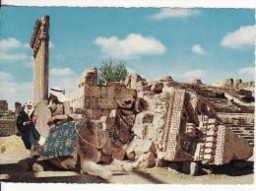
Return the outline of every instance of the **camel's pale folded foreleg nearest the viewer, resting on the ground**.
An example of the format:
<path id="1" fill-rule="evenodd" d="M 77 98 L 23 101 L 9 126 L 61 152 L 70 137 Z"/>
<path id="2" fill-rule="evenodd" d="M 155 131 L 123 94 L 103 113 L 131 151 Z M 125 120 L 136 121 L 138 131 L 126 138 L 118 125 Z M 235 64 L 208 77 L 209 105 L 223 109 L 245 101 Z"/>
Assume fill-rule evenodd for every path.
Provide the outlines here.
<path id="1" fill-rule="evenodd" d="M 95 161 L 84 160 L 84 172 L 90 175 L 98 176 L 104 180 L 110 180 L 112 173 L 105 166 L 96 164 Z"/>

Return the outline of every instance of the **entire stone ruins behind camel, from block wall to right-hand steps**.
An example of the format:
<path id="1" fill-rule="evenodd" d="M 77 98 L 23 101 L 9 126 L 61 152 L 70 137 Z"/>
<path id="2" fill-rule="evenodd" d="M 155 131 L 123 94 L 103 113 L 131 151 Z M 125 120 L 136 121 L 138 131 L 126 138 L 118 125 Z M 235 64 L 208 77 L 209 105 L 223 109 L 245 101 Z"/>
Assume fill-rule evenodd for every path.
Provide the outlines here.
<path id="1" fill-rule="evenodd" d="M 147 82 L 131 75 L 124 83 L 106 82 L 103 87 L 96 80 L 96 68 L 87 69 L 78 89 L 67 94 L 74 112 L 100 119 L 116 108 L 118 98 L 140 96 L 149 104 L 136 116 L 135 138 L 115 159 L 152 167 L 188 160 L 221 165 L 253 155 L 254 106 L 243 101 L 239 91 L 217 89 L 201 80 L 177 83 L 168 76 Z"/>

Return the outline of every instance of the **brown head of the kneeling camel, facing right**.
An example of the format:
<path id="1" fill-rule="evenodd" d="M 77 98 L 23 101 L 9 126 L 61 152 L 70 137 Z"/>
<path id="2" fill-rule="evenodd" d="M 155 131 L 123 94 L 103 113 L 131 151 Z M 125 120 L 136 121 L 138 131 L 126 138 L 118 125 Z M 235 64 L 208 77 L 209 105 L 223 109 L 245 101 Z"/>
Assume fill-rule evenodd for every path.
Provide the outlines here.
<path id="1" fill-rule="evenodd" d="M 136 113 L 148 108 L 147 101 L 142 97 L 129 97 L 116 100 L 119 107 L 134 110 Z"/>

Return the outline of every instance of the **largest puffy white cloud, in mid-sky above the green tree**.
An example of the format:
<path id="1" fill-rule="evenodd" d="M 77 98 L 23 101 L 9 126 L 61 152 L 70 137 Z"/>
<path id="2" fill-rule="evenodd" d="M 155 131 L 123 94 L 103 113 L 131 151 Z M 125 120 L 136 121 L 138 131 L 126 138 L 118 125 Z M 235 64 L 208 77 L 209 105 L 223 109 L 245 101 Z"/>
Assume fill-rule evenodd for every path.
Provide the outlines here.
<path id="1" fill-rule="evenodd" d="M 101 51 L 108 56 L 121 57 L 126 59 L 139 58 L 141 55 L 163 54 L 165 47 L 161 42 L 152 36 L 142 36 L 137 33 L 130 33 L 123 40 L 117 36 L 110 38 L 97 37 L 95 40 L 100 45 Z"/>

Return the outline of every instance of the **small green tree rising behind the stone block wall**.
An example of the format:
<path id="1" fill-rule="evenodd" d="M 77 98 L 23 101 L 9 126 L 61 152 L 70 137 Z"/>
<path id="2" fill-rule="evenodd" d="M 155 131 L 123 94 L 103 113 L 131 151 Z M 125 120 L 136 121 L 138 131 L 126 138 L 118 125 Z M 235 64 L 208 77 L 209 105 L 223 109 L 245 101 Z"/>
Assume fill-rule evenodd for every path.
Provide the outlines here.
<path id="1" fill-rule="evenodd" d="M 120 59 L 117 64 L 114 64 L 112 59 L 102 61 L 99 68 L 98 85 L 102 86 L 105 81 L 124 82 L 128 72 L 125 66 L 125 61 Z"/>

